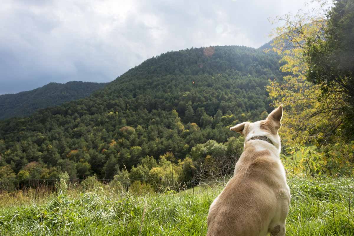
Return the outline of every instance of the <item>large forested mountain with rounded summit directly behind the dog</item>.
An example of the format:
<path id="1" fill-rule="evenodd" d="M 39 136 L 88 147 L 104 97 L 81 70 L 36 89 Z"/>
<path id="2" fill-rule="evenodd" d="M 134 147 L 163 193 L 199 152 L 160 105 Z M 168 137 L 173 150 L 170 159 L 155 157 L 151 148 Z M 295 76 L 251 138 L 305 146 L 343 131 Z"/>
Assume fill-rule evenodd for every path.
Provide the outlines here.
<path id="1" fill-rule="evenodd" d="M 234 145 L 230 125 L 272 110 L 265 86 L 274 78 L 282 78 L 278 55 L 254 48 L 161 54 L 87 98 L 0 121 L 3 176 L 111 179 L 146 156 L 196 161 L 194 147 L 205 143 L 198 153 L 221 156 Z"/>

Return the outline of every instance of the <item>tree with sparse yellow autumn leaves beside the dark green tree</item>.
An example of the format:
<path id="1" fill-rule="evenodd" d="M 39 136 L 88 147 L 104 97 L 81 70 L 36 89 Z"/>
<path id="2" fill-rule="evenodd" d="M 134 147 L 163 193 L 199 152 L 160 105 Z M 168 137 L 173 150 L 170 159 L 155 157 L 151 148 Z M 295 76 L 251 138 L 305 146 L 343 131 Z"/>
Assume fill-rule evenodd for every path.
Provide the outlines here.
<path id="1" fill-rule="evenodd" d="M 283 81 L 271 80 L 267 91 L 274 106 L 284 105 L 286 116 L 279 132 L 287 146 L 335 142 L 336 131 L 341 125 L 336 99 L 322 96 L 321 86 L 306 77 L 308 64 L 304 56 L 309 50 L 307 43 L 324 38 L 327 21 L 322 7 L 311 13 L 280 17 L 284 24 L 273 33 L 272 50 L 282 55 L 280 70 L 286 76 Z"/>

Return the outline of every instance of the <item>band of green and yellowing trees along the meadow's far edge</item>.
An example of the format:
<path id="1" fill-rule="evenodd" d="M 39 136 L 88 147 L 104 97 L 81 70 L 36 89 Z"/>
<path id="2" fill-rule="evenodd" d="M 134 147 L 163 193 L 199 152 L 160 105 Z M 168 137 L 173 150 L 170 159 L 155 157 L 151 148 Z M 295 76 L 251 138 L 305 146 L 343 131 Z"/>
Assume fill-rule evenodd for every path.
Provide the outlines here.
<path id="1" fill-rule="evenodd" d="M 62 181 L 63 170 L 67 175 L 67 182 L 80 183 L 81 187 L 92 189 L 101 186 L 102 182 L 109 183 L 120 190 L 134 188 L 135 191 L 165 191 L 181 190 L 190 188 L 206 181 L 208 178 L 213 181 L 216 178 L 223 179 L 226 175 L 232 175 L 234 165 L 243 151 L 244 140 L 242 137 L 230 137 L 226 143 L 218 143 L 209 140 L 203 144 L 197 144 L 192 148 L 190 155 L 176 159 L 172 152 L 167 152 L 156 160 L 153 156 L 146 156 L 139 161 L 139 164 L 132 166 L 130 171 L 126 166 L 119 169 L 120 165 L 111 156 L 104 165 L 103 170 L 109 178 L 97 180 L 97 175 L 87 172 L 85 178 L 77 178 L 77 171 L 88 171 L 89 163 L 66 163 L 75 168 L 56 167 L 48 169 L 38 162 L 31 162 L 17 175 L 9 166 L 0 167 L 0 190 L 11 191 L 17 188 L 45 188 L 54 187 Z M 135 147 L 134 149 L 138 149 Z M 82 161 L 82 160 L 81 160 Z M 59 161 L 60 162 L 60 161 Z M 61 166 L 63 167 L 63 166 Z M 68 174 L 68 172 L 70 174 Z"/>

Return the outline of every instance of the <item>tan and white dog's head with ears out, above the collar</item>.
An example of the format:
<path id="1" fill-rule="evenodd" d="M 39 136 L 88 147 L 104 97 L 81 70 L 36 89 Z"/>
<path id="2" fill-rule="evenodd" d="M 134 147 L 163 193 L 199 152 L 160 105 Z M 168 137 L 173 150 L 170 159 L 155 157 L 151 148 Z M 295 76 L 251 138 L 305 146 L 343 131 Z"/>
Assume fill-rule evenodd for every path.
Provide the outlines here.
<path id="1" fill-rule="evenodd" d="M 231 127 L 230 130 L 238 132 L 244 136 L 245 143 L 250 141 L 253 137 L 267 137 L 280 152 L 281 146 L 278 130 L 281 126 L 280 120 L 282 116 L 283 107 L 280 105 L 268 115 L 267 119 L 253 123 L 244 122 Z"/>

